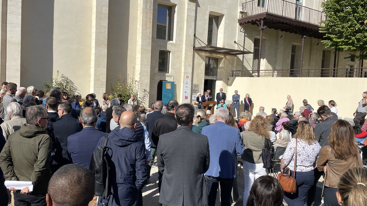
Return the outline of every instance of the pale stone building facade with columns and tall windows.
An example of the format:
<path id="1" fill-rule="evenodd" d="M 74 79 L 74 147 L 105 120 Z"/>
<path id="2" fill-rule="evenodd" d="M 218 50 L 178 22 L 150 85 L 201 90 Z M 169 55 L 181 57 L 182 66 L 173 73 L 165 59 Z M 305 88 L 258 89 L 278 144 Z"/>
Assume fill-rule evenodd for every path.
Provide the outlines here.
<path id="1" fill-rule="evenodd" d="M 254 0 L 260 7 L 281 2 L 263 1 Z M 104 92 L 109 93 L 116 74 L 126 78 L 134 71 L 134 77 L 140 79 L 139 95 L 145 95 L 145 106 L 160 99 L 162 81 L 175 82 L 175 99 L 179 102 L 192 102 L 196 90 L 203 93 L 210 89 L 215 95 L 222 87 L 226 92 L 232 71 L 257 75 L 258 58 L 253 53 L 258 49 L 260 32 L 257 25 L 239 25 L 239 19 L 248 12 L 243 10 L 244 2 L 3 0 L 0 80 L 24 87 L 34 85 L 40 90 L 42 81 L 60 71 L 76 83 L 83 96 L 95 93 L 100 99 Z M 322 10 L 319 0 L 295 4 Z M 299 69 L 301 44 L 299 34 L 264 29 L 261 70 L 287 76 L 290 64 Z M 221 49 L 193 49 L 206 45 Z M 228 50 L 232 54 L 220 52 Z M 345 59 L 348 54 L 337 54 L 336 67 L 363 65 Z M 302 65 L 304 69 L 332 68 L 334 51 L 325 48 L 320 39 L 306 37 Z M 187 76 L 189 88 L 184 84 Z M 189 90 L 189 98 L 185 90 Z"/>

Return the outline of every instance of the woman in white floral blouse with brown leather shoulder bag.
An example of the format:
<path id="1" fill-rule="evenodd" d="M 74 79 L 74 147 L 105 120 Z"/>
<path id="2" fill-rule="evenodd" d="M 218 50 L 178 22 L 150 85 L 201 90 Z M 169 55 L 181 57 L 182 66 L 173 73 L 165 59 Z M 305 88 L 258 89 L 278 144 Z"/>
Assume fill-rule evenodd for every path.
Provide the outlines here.
<path id="1" fill-rule="evenodd" d="M 296 147 L 297 155 L 295 155 Z M 289 206 L 304 205 L 306 194 L 315 180 L 313 169 L 320 149 L 321 146 L 316 141 L 310 123 L 306 121 L 299 122 L 297 132 L 294 138 L 289 141 L 283 158 L 280 160 L 280 170 L 283 172 L 287 166 L 291 176 L 297 178 L 297 191 L 295 193 L 284 192 L 284 200 Z"/>

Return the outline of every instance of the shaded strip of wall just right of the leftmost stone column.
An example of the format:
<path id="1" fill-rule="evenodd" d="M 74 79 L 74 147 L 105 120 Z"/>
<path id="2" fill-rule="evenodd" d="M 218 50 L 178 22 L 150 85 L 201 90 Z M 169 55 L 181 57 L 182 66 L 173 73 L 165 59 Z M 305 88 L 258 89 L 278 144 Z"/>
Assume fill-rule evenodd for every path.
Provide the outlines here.
<path id="1" fill-rule="evenodd" d="M 42 90 L 53 71 L 54 0 L 22 1 L 21 84 Z M 68 76 L 72 76 L 69 75 Z"/>

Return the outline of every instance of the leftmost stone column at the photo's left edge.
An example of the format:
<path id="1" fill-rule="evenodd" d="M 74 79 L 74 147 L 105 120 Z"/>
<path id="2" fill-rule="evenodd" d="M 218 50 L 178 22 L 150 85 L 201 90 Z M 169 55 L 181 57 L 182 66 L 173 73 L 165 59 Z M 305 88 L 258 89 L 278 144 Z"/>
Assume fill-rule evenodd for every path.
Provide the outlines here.
<path id="1" fill-rule="evenodd" d="M 6 3 L 6 1 L 3 1 Z M 5 49 L 1 44 L 1 58 L 6 59 L 6 65 L 1 64 L 2 76 L 6 75 L 7 82 L 14 82 L 20 86 L 20 72 L 21 72 L 21 25 L 22 25 L 22 0 L 8 0 L 6 7 L 6 19 L 2 18 L 2 25 L 6 24 L 6 29 L 1 30 L 1 40 L 6 42 Z M 4 12 L 4 9 L 2 10 Z M 3 34 L 6 35 L 3 36 Z M 2 42 L 3 43 L 3 42 Z M 4 51 L 4 53 L 3 53 Z M 4 66 L 6 66 L 6 73 L 3 74 Z"/>

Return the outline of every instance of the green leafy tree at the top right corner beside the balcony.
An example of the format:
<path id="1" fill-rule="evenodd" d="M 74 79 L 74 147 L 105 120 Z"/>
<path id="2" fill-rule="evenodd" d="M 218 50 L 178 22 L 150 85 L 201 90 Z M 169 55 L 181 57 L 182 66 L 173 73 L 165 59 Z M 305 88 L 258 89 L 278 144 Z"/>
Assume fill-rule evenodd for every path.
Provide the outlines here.
<path id="1" fill-rule="evenodd" d="M 367 58 L 367 1 L 324 0 L 322 7 L 327 19 L 322 22 L 326 47 L 337 51 L 363 52 L 354 55 L 357 59 Z"/>

